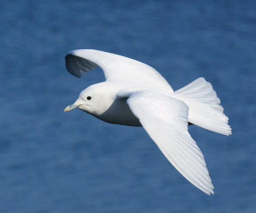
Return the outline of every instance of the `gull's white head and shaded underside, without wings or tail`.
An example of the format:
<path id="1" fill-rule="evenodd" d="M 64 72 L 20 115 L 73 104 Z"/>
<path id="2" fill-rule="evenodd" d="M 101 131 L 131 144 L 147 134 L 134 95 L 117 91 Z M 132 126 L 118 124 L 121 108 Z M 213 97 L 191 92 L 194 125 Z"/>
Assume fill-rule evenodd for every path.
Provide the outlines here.
<path id="1" fill-rule="evenodd" d="M 122 85 L 112 82 L 101 82 L 83 90 L 79 98 L 71 107 L 82 109 L 96 118 L 112 123 L 127 126 L 141 126 L 137 117 L 133 115 L 126 103 L 126 97 L 118 97 Z M 92 97 L 87 100 L 87 97 Z M 65 111 L 70 110 L 68 106 Z"/>

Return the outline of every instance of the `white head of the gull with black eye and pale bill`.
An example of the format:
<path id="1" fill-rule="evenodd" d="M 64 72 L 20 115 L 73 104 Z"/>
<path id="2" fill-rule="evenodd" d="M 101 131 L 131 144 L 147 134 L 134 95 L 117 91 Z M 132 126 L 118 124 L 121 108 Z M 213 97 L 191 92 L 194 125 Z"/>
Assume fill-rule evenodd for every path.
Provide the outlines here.
<path id="1" fill-rule="evenodd" d="M 113 101 L 104 87 L 98 83 L 83 90 L 75 103 L 67 106 L 64 112 L 78 108 L 93 116 L 99 116 L 109 108 Z"/>

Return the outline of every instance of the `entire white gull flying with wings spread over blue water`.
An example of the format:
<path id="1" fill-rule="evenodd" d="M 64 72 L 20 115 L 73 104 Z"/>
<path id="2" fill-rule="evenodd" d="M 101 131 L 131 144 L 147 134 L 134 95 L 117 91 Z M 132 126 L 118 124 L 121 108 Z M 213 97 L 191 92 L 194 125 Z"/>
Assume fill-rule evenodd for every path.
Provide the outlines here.
<path id="1" fill-rule="evenodd" d="M 231 134 L 228 117 L 211 83 L 198 78 L 173 91 L 153 67 L 99 50 L 73 50 L 65 57 L 76 77 L 100 67 L 106 81 L 83 90 L 74 104 L 96 118 L 120 125 L 143 126 L 169 162 L 203 192 L 213 192 L 204 157 L 188 133 L 192 123 L 224 135 Z"/>

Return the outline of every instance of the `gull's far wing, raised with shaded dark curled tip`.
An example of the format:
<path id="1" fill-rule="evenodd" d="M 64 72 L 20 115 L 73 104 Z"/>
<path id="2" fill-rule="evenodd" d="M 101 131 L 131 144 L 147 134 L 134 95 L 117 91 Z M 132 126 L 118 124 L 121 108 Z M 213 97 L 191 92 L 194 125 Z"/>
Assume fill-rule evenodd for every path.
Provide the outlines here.
<path id="1" fill-rule="evenodd" d="M 66 68 L 72 75 L 80 78 L 81 73 L 100 67 L 106 80 L 129 82 L 146 88 L 159 87 L 173 92 L 169 83 L 153 67 L 142 62 L 93 49 L 78 49 L 68 52 L 65 57 Z"/>

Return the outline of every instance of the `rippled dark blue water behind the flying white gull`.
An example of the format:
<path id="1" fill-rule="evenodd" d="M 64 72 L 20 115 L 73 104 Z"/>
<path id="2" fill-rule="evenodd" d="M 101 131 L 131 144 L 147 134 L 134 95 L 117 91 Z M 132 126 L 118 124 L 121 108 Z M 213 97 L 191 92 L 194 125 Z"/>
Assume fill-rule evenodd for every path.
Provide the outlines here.
<path id="1" fill-rule="evenodd" d="M 256 212 L 256 4 L 249 1 L 5 1 L 0 4 L 0 212 Z M 65 68 L 72 49 L 153 66 L 179 89 L 210 81 L 233 134 L 189 126 L 215 186 L 208 196 L 142 127 L 73 110 L 104 80 Z"/>

